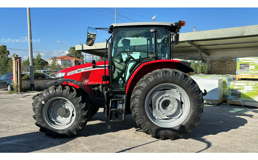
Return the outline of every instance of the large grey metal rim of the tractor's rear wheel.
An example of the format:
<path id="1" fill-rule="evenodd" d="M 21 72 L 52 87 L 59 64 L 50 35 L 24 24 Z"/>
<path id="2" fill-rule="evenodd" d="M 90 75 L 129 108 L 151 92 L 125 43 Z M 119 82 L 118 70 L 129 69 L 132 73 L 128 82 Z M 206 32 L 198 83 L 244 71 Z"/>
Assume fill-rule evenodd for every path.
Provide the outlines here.
<path id="1" fill-rule="evenodd" d="M 190 99 L 181 87 L 175 84 L 160 84 L 147 95 L 145 110 L 149 119 L 160 127 L 180 125 L 190 112 Z"/>

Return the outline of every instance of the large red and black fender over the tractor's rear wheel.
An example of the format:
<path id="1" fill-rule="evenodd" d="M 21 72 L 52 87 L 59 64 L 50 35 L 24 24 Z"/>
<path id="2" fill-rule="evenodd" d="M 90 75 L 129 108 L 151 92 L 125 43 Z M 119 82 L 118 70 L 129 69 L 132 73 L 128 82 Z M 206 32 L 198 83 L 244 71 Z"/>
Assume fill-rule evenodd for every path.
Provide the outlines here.
<path id="1" fill-rule="evenodd" d="M 169 59 L 145 62 L 137 67 L 130 76 L 129 80 L 127 81 L 125 93 L 132 92 L 136 83 L 140 81 L 144 75 L 150 73 L 151 71 L 163 68 L 177 69 L 184 73 L 195 72 L 195 70 L 190 67 L 190 63 L 188 62 Z"/>

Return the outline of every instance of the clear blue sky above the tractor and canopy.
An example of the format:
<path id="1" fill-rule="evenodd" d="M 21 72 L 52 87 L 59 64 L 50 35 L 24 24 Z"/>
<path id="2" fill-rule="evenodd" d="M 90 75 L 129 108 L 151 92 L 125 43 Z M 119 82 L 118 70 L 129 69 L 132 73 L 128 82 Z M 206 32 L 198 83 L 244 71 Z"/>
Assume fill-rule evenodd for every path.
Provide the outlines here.
<path id="1" fill-rule="evenodd" d="M 39 43 L 33 43 L 33 51 L 68 53 L 69 47 L 86 43 L 88 26 L 105 28 L 115 23 L 115 15 L 110 12 L 115 11 L 115 8 L 107 8 L 110 11 L 104 8 L 76 9 L 30 8 L 32 39 L 40 39 Z M 27 8 L 0 8 L 0 12 L 0 39 L 28 37 Z M 156 22 L 186 21 L 180 33 L 189 32 L 193 25 L 203 31 L 258 24 L 257 8 L 117 8 L 117 13 L 136 22 L 151 21 L 154 15 Z M 126 22 L 133 21 L 117 16 L 117 23 Z M 95 43 L 105 42 L 109 36 L 107 31 L 98 30 Z M 28 43 L 0 42 L 0 45 L 28 50 Z M 26 51 L 9 51 L 10 55 L 16 53 L 24 59 L 29 55 Z M 37 53 L 34 55 L 36 57 Z M 53 56 L 42 53 L 43 59 Z"/>

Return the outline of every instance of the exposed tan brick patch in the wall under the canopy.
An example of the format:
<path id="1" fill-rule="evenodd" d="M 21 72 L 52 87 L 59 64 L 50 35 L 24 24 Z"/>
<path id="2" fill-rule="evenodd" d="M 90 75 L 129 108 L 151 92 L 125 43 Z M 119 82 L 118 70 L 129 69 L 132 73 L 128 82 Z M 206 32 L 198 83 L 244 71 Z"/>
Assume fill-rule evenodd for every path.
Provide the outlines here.
<path id="1" fill-rule="evenodd" d="M 231 74 L 235 75 L 237 69 L 236 61 L 212 61 L 211 74 Z"/>

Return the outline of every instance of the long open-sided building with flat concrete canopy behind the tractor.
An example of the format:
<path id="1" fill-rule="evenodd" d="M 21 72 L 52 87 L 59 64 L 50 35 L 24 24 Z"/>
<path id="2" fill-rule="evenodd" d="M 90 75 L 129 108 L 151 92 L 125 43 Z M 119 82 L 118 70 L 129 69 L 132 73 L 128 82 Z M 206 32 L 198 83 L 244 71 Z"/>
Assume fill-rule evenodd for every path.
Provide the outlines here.
<path id="1" fill-rule="evenodd" d="M 104 57 L 106 43 L 75 49 Z M 207 62 L 208 74 L 236 74 L 241 57 L 258 57 L 258 25 L 180 33 L 173 48 L 173 58 Z"/>

